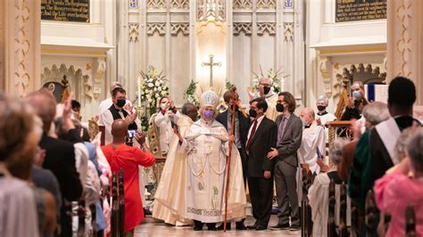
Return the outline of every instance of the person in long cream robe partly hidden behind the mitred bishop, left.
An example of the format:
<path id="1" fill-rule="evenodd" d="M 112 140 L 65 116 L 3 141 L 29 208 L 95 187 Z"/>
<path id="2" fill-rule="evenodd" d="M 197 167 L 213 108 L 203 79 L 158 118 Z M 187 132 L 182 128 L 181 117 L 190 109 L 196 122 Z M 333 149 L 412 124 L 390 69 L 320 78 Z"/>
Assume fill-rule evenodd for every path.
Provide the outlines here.
<path id="1" fill-rule="evenodd" d="M 186 137 L 193 125 L 197 108 L 192 103 L 184 104 L 178 119 L 178 130 L 182 137 Z M 172 130 L 173 133 L 173 130 Z M 170 225 L 191 224 L 191 219 L 184 218 L 186 209 L 187 187 L 187 153 L 178 151 L 178 136 L 174 135 L 169 146 L 168 156 L 164 164 L 159 186 L 154 195 L 153 217 L 163 220 Z"/>

